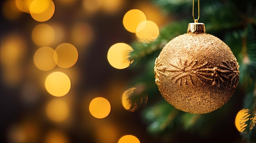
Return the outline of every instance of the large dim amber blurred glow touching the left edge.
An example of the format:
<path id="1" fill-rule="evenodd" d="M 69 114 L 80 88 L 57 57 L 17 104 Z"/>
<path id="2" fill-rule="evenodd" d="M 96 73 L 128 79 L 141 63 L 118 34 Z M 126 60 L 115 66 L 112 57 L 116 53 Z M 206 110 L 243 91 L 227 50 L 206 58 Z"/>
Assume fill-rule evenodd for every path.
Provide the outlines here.
<path id="1" fill-rule="evenodd" d="M 27 42 L 19 33 L 1 37 L 0 63 L 4 85 L 16 86 L 21 81 L 27 57 Z"/>

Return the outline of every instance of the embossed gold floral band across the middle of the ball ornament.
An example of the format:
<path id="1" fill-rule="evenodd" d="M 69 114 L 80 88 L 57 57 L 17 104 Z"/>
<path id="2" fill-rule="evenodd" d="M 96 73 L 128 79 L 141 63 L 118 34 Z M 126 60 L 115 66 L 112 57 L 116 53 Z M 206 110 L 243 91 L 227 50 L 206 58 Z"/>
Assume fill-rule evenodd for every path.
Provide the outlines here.
<path id="1" fill-rule="evenodd" d="M 180 59 L 179 64 L 170 64 L 175 70 L 171 70 L 168 68 L 168 66 L 163 65 L 158 58 L 156 59 L 156 70 L 160 74 L 171 76 L 171 80 L 175 80 L 175 83 L 180 83 L 180 86 L 182 86 L 183 81 L 186 85 L 188 85 L 188 81 L 191 82 L 191 84 L 194 85 L 194 78 L 198 78 L 199 81 L 202 82 L 202 84 L 205 84 L 204 81 L 201 79 L 207 79 L 212 82 L 212 85 L 214 86 L 217 84 L 220 86 L 220 82 L 225 82 L 225 80 L 230 79 L 231 85 L 234 87 L 236 86 L 237 80 L 236 78 L 239 76 L 239 72 L 235 69 L 236 62 L 234 60 L 231 60 L 230 62 L 222 62 L 221 65 L 216 67 L 209 67 L 208 62 L 204 62 L 202 65 L 198 65 L 198 60 L 195 59 L 192 62 L 188 62 L 185 60 L 184 63 L 182 63 Z M 168 72 L 166 72 L 168 71 Z M 175 75 L 170 75 L 170 72 L 175 72 Z M 193 78 L 192 78 L 193 77 Z"/>

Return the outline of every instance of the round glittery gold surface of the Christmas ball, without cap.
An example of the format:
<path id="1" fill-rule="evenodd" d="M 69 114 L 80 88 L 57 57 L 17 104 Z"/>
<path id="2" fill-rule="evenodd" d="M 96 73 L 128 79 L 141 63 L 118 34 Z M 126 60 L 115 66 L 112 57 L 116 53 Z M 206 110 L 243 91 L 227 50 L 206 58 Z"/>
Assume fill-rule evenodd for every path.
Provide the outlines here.
<path id="1" fill-rule="evenodd" d="M 164 99 L 195 114 L 225 105 L 239 79 L 239 65 L 229 46 L 207 33 L 173 38 L 156 58 L 154 71 Z"/>

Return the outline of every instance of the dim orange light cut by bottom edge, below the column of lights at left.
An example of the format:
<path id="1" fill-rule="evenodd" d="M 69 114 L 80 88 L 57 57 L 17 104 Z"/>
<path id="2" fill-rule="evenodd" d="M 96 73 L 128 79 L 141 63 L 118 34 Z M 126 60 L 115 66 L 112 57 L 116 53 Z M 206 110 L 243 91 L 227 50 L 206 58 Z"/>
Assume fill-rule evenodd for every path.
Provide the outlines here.
<path id="1" fill-rule="evenodd" d="M 63 132 L 51 130 L 46 134 L 44 143 L 69 143 L 69 141 Z"/>

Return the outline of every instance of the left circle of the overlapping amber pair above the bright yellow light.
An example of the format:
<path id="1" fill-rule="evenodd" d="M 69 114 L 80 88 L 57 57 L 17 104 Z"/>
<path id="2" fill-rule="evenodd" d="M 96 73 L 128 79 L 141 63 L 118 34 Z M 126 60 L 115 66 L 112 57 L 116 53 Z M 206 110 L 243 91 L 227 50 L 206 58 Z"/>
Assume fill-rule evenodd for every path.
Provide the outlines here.
<path id="1" fill-rule="evenodd" d="M 52 70 L 58 61 L 58 56 L 51 47 L 41 47 L 34 54 L 34 64 L 43 71 Z"/>

